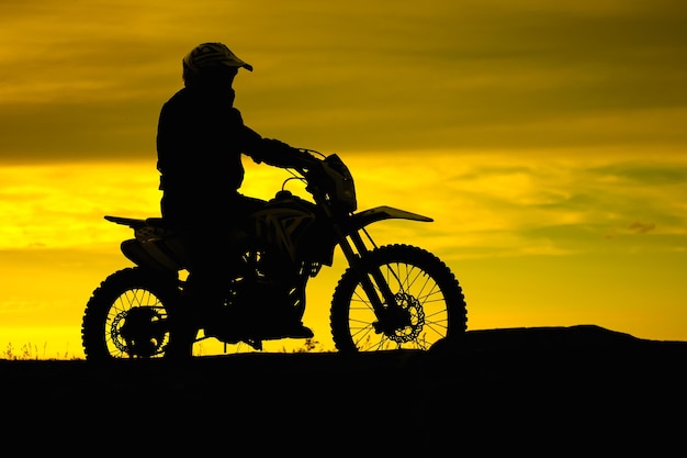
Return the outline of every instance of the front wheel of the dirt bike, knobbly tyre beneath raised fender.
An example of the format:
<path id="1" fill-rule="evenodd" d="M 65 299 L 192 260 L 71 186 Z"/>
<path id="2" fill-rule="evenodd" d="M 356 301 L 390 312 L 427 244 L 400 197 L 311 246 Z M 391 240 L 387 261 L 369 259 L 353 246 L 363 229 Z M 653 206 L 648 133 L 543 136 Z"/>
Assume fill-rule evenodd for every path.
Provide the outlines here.
<path id="1" fill-rule="evenodd" d="M 362 286 L 375 270 L 394 295 L 394 303 L 384 303 L 383 317 Z M 331 301 L 331 335 L 341 353 L 427 350 L 463 334 L 466 323 L 465 298 L 454 275 L 431 253 L 409 245 L 365 255 L 344 273 Z"/>

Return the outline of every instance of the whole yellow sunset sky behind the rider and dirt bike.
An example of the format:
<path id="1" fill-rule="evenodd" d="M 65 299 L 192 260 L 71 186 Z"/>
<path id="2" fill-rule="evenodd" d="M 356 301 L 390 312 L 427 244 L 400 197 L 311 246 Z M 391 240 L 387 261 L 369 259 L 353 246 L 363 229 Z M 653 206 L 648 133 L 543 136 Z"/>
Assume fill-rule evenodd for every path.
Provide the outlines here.
<path id="1" fill-rule="evenodd" d="M 361 209 L 435 217 L 372 230 L 444 259 L 471 328 L 687 339 L 685 20 L 677 0 L 3 1 L 0 345 L 80 353 L 86 300 L 127 266 L 102 215 L 157 214 L 157 115 L 205 41 L 255 66 L 248 125 L 340 154 Z M 282 178 L 248 165 L 245 191 Z M 323 343 L 342 267 L 313 284 Z"/>

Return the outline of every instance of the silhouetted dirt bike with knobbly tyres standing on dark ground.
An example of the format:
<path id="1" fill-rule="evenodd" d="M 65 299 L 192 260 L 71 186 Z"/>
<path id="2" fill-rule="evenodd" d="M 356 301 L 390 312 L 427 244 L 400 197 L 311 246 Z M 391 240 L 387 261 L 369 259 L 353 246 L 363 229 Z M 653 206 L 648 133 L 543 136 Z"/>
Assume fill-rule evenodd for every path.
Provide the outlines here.
<path id="1" fill-rule="evenodd" d="M 194 326 L 192 340 L 215 338 L 262 350 L 264 340 L 311 337 L 280 331 L 279 311 L 303 316 L 308 279 L 333 266 L 337 246 L 348 261 L 329 310 L 337 351 L 427 350 L 460 337 L 466 305 L 449 267 L 413 245 L 378 246 L 367 230 L 390 219 L 433 220 L 391 206 L 357 211 L 353 178 L 340 157 L 300 153 L 302 164 L 288 168 L 291 176 L 274 198 L 235 233 L 219 234 L 230 236 L 243 255 L 224 284 L 223 320 Z M 293 179 L 305 183 L 308 200 L 285 189 Z M 135 267 L 115 271 L 92 292 L 81 327 L 86 358 L 164 357 L 188 316 L 183 244 L 161 217 L 104 217 L 134 231 L 121 250 Z M 192 356 L 192 346 L 183 351 Z"/>

